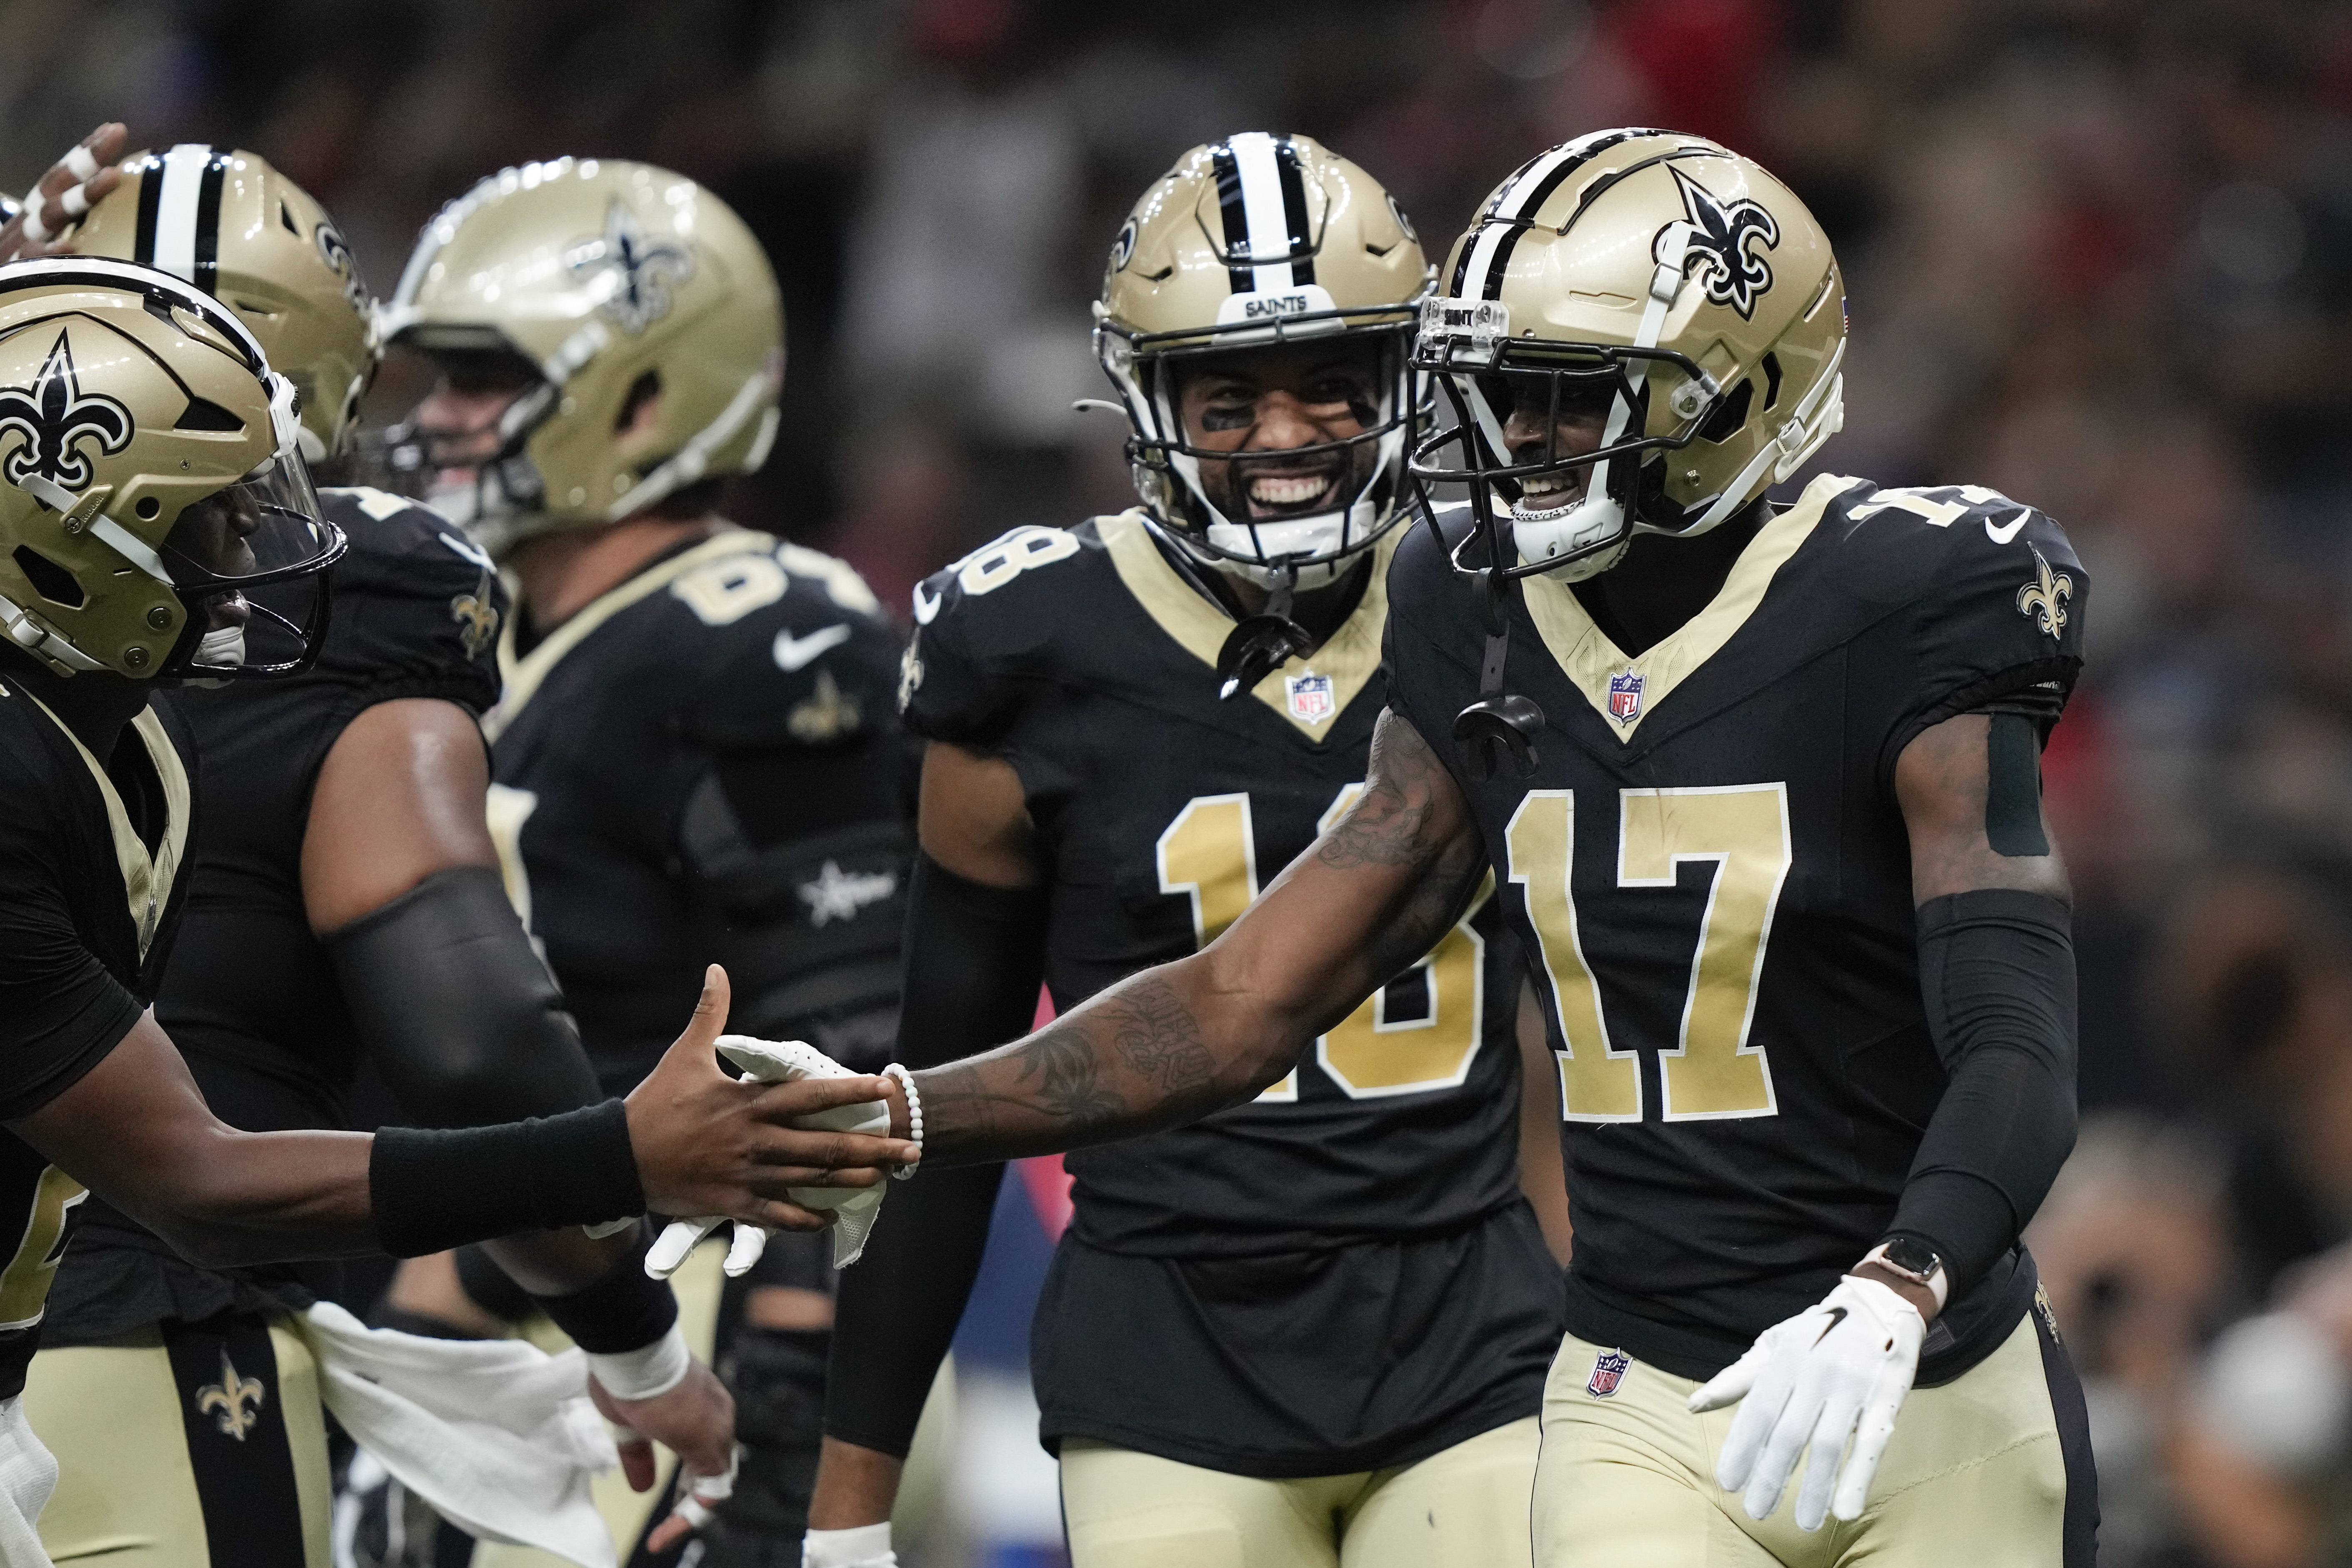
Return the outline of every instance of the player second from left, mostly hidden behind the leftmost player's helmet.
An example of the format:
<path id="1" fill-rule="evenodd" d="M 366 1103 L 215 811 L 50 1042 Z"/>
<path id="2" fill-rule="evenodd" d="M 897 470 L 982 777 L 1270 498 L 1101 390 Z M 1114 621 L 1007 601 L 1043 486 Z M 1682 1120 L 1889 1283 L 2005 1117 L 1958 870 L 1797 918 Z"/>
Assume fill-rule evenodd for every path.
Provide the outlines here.
<path id="1" fill-rule="evenodd" d="M 134 155 L 118 179 L 73 233 L 75 254 L 158 266 L 235 310 L 301 397 L 303 451 L 339 461 L 376 343 L 374 301 L 329 216 L 230 148 Z M 313 668 L 167 698 L 205 759 L 209 809 L 188 846 L 195 896 L 155 1016 L 214 1112 L 249 1131 L 346 1126 L 362 1051 L 426 1126 L 593 1105 L 595 1074 L 506 903 L 485 820 L 475 717 L 499 696 L 496 574 L 419 505 L 374 489 L 318 496 L 348 548 Z M 256 644 L 249 628 L 245 654 L 266 663 Z M 597 1356 L 602 1387 L 654 1389 L 619 1401 L 621 1420 L 720 1476 L 734 1453 L 729 1399 L 687 1356 L 670 1288 L 635 1267 L 637 1241 L 630 1225 L 604 1241 L 550 1232 L 494 1251 Z M 235 1542 L 212 1554 L 221 1561 L 322 1554 L 327 1497 L 306 1490 L 327 1476 L 315 1371 L 273 1319 L 336 1284 L 334 1265 L 198 1269 L 103 1201 L 85 1204 L 49 1293 L 49 1354 L 26 1385 L 59 1458 L 42 1514 L 49 1556 L 141 1542 L 151 1561 L 202 1563 L 205 1533 L 186 1530 L 195 1516 Z M 181 1420 L 223 1359 L 261 1389 L 256 1429 Z M 139 1488 L 118 1486 L 129 1432 L 162 1434 Z"/>

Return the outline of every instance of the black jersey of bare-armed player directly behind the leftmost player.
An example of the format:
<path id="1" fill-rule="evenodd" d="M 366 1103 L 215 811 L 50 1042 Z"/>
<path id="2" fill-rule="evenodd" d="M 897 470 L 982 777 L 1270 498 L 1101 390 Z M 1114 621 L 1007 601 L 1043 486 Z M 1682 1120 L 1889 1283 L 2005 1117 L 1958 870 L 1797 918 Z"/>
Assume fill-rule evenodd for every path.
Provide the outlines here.
<path id="1" fill-rule="evenodd" d="M 310 790 L 327 752 L 376 703 L 442 698 L 480 715 L 499 698 L 506 590 L 489 557 L 437 512 L 376 489 L 322 489 L 320 508 L 350 548 L 332 569 L 318 663 L 289 679 L 155 701 L 188 726 L 205 776 L 188 912 L 155 1020 L 212 1112 L 254 1133 L 343 1126 L 362 1048 L 301 893 Z M 198 1269 L 92 1199 L 56 1274 L 47 1338 L 87 1345 L 336 1279 L 336 1265 Z"/>

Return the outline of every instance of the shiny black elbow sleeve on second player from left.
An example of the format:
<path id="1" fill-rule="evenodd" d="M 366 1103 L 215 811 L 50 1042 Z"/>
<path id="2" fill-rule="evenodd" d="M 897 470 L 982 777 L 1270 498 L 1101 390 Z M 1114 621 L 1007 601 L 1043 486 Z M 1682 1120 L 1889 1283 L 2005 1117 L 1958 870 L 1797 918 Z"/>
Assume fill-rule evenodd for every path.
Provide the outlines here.
<path id="1" fill-rule="evenodd" d="M 602 1100 L 579 1030 L 487 865 L 433 872 L 327 938 L 360 1039 L 423 1126 Z"/>

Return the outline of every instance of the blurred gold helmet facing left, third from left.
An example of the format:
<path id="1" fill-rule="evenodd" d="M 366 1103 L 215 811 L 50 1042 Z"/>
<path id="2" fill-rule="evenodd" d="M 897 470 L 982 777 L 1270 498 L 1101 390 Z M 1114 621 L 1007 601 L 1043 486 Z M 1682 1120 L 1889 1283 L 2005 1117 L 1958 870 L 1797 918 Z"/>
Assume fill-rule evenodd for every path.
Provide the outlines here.
<path id="1" fill-rule="evenodd" d="M 753 473 L 776 440 L 783 301 L 767 254 L 724 202 L 652 165 L 557 158 L 485 179 L 426 223 L 383 341 L 539 369 L 496 456 L 461 494 L 433 494 L 492 555 Z M 659 418 L 623 440 L 649 390 Z M 388 444 L 395 465 L 440 468 L 416 430 Z"/>

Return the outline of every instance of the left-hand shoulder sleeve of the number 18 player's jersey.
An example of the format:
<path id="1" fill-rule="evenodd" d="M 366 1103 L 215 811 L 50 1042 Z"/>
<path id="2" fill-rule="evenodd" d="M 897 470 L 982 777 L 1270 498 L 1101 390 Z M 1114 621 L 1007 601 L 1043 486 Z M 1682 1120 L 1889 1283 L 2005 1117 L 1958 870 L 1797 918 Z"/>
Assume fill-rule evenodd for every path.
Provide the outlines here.
<path id="1" fill-rule="evenodd" d="M 934 571 L 915 585 L 915 639 L 898 682 L 906 726 L 931 741 L 995 743 L 1025 677 L 1051 663 L 1056 637 L 1103 590 L 1124 592 L 1091 520 L 1025 524 Z"/>

